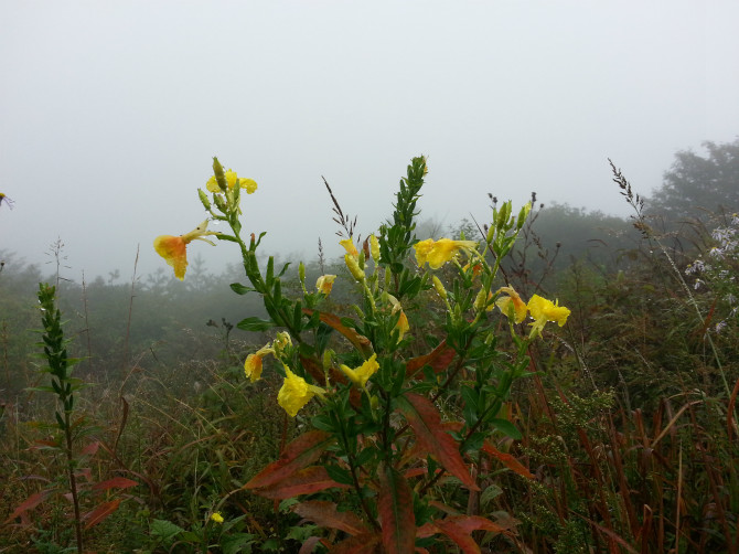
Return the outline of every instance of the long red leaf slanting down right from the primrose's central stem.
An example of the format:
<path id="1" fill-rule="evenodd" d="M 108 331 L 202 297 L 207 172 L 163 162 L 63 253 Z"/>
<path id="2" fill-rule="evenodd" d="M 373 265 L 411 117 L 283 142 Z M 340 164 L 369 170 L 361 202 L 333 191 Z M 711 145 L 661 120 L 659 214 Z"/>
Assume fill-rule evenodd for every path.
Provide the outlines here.
<path id="1" fill-rule="evenodd" d="M 445 430 L 439 412 L 433 404 L 424 396 L 409 393 L 398 397 L 398 407 L 416 432 L 421 447 L 470 490 L 480 490 L 470 476 L 462 455 L 459 454 L 459 445 Z"/>

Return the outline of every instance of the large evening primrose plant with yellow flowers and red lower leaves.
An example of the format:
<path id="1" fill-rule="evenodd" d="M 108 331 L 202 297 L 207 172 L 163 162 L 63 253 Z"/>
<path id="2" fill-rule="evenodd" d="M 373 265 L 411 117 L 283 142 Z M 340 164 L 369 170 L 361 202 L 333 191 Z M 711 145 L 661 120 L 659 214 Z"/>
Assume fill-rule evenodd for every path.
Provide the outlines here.
<path id="1" fill-rule="evenodd" d="M 298 498 L 294 513 L 332 530 L 311 540 L 330 552 L 428 552 L 442 544 L 479 552 L 476 541 L 515 533 L 514 520 L 468 509 L 480 505 L 473 499 L 484 494 L 482 483 L 494 486 L 501 469 L 534 478 L 499 450 L 521 438 L 507 416 L 511 390 L 529 374 L 529 344 L 547 323 L 564 326 L 569 310 L 538 296 L 526 301 L 497 280 L 531 204 L 517 213 L 511 202 L 493 206 L 480 242 L 419 241 L 416 204 L 427 171 L 426 158 L 414 158 L 392 217 L 361 244 L 351 233 L 341 241 L 345 276 L 323 275 L 307 286 L 299 264 L 297 298 L 282 292 L 289 264 L 277 270 L 272 257 L 265 268 L 257 263 L 265 233 L 242 234 L 242 191 L 250 194 L 256 183 L 224 171 L 217 159 L 207 192 L 199 195 L 210 220 L 229 232 L 201 224 L 181 241 L 154 242 L 178 277 L 193 238 L 239 247 L 248 283 L 231 288 L 258 294 L 269 318 L 249 317 L 237 327 L 276 332 L 246 358 L 245 379 L 259 380 L 263 359 L 274 356 L 283 380 L 276 401 L 306 429 L 244 489 L 276 501 Z M 178 248 L 161 247 L 168 241 Z M 333 313 L 325 300 L 342 278 L 353 281 L 354 303 Z M 439 310 L 441 334 L 426 333 Z M 501 332 L 513 351 L 499 348 Z"/>

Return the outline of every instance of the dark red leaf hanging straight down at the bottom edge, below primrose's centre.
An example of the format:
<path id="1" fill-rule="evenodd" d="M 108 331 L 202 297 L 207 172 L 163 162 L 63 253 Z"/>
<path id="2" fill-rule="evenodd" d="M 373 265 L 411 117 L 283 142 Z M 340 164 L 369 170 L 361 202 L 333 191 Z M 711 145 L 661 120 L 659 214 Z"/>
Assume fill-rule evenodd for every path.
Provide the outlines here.
<path id="1" fill-rule="evenodd" d="M 400 473 L 393 468 L 379 472 L 377 512 L 383 526 L 383 545 L 389 554 L 407 554 L 416 542 L 414 493 Z"/>

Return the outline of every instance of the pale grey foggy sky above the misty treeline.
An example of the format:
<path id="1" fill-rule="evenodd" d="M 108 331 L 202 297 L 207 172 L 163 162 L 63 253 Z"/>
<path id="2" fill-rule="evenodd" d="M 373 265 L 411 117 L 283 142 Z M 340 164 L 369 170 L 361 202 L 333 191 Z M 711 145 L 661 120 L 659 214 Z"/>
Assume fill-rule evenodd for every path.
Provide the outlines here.
<path id="1" fill-rule="evenodd" d="M 212 157 L 255 179 L 263 253 L 330 255 L 324 175 L 366 236 L 428 156 L 422 219 L 488 196 L 625 215 L 674 153 L 739 135 L 739 2 L 0 0 L 0 249 L 76 281 L 170 268 Z M 218 228 L 218 227 L 212 227 Z M 234 245 L 194 243 L 214 273 Z M 43 266 L 51 273 L 52 266 Z"/>

